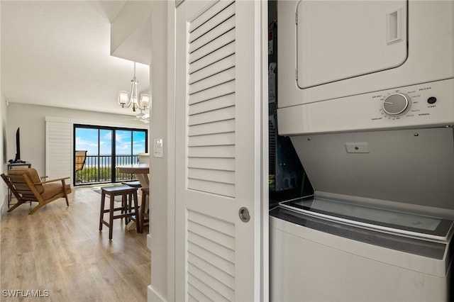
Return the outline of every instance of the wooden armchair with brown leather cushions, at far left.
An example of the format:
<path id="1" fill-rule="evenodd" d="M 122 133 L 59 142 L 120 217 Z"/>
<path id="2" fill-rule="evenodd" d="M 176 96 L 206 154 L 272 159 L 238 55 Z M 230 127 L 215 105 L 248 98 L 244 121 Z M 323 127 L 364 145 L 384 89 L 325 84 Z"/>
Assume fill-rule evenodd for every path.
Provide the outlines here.
<path id="1" fill-rule="evenodd" d="M 70 179 L 70 177 L 42 181 L 35 169 L 27 168 L 11 169 L 8 171 L 8 175 L 2 173 L 1 178 L 17 198 L 17 203 L 9 208 L 8 212 L 21 206 L 22 203 L 37 201 L 38 206 L 28 213 L 31 215 L 51 201 L 63 197 L 66 199 L 66 205 L 70 206 L 68 194 L 71 193 L 71 185 L 65 183 L 65 179 Z"/>

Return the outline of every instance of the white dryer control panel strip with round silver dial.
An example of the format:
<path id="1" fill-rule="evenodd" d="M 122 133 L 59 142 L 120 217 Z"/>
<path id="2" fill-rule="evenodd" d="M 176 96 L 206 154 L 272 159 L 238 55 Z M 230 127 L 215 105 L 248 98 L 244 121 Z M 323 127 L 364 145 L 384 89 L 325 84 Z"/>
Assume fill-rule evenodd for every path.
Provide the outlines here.
<path id="1" fill-rule="evenodd" d="M 454 79 L 278 108 L 279 135 L 454 125 Z"/>

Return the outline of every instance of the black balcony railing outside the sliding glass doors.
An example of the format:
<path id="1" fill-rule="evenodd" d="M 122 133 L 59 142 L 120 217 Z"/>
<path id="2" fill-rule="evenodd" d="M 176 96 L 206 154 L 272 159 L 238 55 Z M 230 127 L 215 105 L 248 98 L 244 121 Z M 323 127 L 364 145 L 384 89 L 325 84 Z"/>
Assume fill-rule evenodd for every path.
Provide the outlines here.
<path id="1" fill-rule="evenodd" d="M 136 164 L 137 155 L 117 155 L 112 164 L 111 155 L 87 155 L 84 168 L 75 173 L 74 185 L 103 184 L 108 182 L 137 180 L 135 174 L 119 173 L 116 166 Z M 114 175 L 112 171 L 114 169 Z"/>

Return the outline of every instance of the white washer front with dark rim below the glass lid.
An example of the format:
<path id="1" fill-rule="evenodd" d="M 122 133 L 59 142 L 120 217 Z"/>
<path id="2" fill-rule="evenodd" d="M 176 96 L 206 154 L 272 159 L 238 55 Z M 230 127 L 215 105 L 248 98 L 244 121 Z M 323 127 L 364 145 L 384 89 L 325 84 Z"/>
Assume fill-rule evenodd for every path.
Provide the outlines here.
<path id="1" fill-rule="evenodd" d="M 271 301 L 452 301 L 451 234 L 421 240 L 282 207 L 270 215 Z"/>

